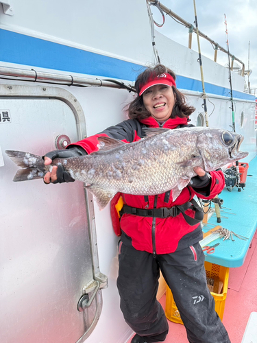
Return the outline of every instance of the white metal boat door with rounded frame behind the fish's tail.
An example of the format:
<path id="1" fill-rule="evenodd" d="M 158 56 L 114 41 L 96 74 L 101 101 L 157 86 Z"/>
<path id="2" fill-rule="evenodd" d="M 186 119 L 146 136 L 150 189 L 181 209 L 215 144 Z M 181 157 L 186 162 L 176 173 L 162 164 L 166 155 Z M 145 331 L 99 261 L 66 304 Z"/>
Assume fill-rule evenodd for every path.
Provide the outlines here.
<path id="1" fill-rule="evenodd" d="M 92 198 L 82 182 L 12 182 L 18 167 L 5 154 L 44 155 L 82 139 L 83 110 L 62 88 L 7 84 L 0 94 L 0 342 L 84 342 L 107 287 Z"/>

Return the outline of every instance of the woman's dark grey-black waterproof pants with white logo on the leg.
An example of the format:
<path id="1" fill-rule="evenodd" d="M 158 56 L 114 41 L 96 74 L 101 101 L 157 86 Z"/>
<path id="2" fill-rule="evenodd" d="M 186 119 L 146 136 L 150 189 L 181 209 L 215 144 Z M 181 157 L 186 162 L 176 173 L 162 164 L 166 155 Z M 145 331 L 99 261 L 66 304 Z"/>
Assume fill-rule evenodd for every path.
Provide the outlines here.
<path id="1" fill-rule="evenodd" d="M 165 340 L 169 326 L 156 300 L 160 270 L 173 293 L 188 341 L 230 343 L 206 284 L 204 253 L 199 243 L 156 258 L 120 244 L 117 286 L 127 324 L 147 342 Z"/>

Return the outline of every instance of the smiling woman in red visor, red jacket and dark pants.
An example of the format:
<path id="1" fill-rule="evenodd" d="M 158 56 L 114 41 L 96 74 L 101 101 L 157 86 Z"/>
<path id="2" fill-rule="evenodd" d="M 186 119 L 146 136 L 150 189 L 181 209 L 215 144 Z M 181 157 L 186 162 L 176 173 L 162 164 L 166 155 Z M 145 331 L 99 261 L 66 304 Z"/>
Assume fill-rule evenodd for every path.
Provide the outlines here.
<path id="1" fill-rule="evenodd" d="M 97 151 L 97 137 L 108 136 L 127 143 L 143 138 L 143 128 L 183 128 L 195 108 L 188 106 L 178 91 L 173 71 L 158 64 L 138 75 L 138 96 L 129 106 L 127 121 L 107 128 L 93 137 L 70 145 L 67 150 L 49 152 L 52 158 L 79 156 Z M 57 174 L 56 174 L 57 173 Z M 228 343 L 228 333 L 215 312 L 215 300 L 206 285 L 202 239 L 202 213 L 193 200 L 212 199 L 225 183 L 222 171 L 206 173 L 195 168 L 191 179 L 173 202 L 172 191 L 156 196 L 117 194 L 112 200 L 114 229 L 121 235 L 117 287 L 121 310 L 127 324 L 136 332 L 132 343 L 164 341 L 169 327 L 156 300 L 160 270 L 171 288 L 175 303 L 191 343 Z M 73 181 L 62 166 L 53 167 L 44 179 L 49 182 Z M 121 220 L 114 205 L 123 199 Z M 172 209 L 168 215 L 163 209 Z M 151 211 L 149 211 L 151 210 Z M 167 211 L 166 211 L 167 212 Z M 199 296 L 201 301 L 196 302 Z"/>

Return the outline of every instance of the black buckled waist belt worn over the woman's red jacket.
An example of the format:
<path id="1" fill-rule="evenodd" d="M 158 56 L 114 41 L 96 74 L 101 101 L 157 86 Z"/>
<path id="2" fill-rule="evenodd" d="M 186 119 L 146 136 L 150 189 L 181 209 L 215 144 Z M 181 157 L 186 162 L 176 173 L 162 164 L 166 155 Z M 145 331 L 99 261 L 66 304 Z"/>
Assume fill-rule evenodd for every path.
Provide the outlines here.
<path id="1" fill-rule="evenodd" d="M 188 209 L 193 209 L 195 211 L 195 217 L 192 218 L 189 215 L 186 215 L 185 211 Z M 192 199 L 190 202 L 186 202 L 183 205 L 177 205 L 170 207 L 161 207 L 160 209 L 138 209 L 136 207 L 131 207 L 127 205 L 123 205 L 121 211 L 119 211 L 120 215 L 123 214 L 132 214 L 132 215 L 140 215 L 140 217 L 157 217 L 157 218 L 167 218 L 167 217 L 176 217 L 180 213 L 182 213 L 186 222 L 193 226 L 201 222 L 204 219 L 204 211 L 201 207 L 197 204 L 197 202 Z"/>

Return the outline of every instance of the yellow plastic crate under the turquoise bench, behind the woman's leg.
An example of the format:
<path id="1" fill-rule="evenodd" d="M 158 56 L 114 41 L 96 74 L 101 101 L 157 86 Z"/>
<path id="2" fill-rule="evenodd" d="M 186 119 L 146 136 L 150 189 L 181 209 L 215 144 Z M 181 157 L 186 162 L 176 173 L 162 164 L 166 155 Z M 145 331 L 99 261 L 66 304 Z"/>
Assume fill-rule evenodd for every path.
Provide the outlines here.
<path id="1" fill-rule="evenodd" d="M 213 298 L 215 298 L 215 311 L 219 315 L 219 318 L 221 318 L 222 320 L 225 309 L 225 298 L 227 297 L 228 293 L 228 276 L 230 268 L 223 267 L 222 265 L 217 265 L 210 262 L 205 262 L 204 265 L 207 277 L 213 278 L 214 276 L 219 276 L 219 280 L 223 282 L 223 293 L 216 294 L 210 292 Z M 178 308 L 175 305 L 173 294 L 168 286 L 166 292 L 165 315 L 169 320 L 171 320 L 171 322 L 183 324 L 182 319 L 180 318 L 180 312 L 178 311 Z"/>

